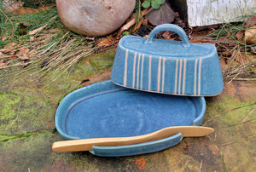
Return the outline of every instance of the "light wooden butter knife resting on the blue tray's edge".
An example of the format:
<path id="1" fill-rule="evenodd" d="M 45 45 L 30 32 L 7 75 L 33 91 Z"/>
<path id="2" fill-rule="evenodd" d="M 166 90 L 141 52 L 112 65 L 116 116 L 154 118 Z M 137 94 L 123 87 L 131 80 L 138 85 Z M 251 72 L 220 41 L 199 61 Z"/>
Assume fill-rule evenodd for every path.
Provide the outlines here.
<path id="1" fill-rule="evenodd" d="M 92 146 L 125 146 L 145 143 L 148 141 L 161 140 L 177 133 L 183 137 L 200 137 L 209 135 L 214 129 L 201 126 L 175 126 L 157 130 L 147 135 L 113 138 L 91 138 L 79 140 L 62 140 L 53 143 L 52 150 L 55 152 L 80 152 L 90 151 Z"/>

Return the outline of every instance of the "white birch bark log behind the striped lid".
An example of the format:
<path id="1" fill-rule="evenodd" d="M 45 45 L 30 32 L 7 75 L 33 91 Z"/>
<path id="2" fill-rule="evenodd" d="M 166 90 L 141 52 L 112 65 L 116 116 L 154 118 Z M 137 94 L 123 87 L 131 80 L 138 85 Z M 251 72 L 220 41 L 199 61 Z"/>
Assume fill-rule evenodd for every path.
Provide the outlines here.
<path id="1" fill-rule="evenodd" d="M 187 6 L 189 26 L 210 26 L 242 21 L 242 16 L 255 13 L 256 0 L 170 0 Z M 183 5 L 180 5 L 183 4 Z M 184 15 L 184 14 L 181 14 Z"/>

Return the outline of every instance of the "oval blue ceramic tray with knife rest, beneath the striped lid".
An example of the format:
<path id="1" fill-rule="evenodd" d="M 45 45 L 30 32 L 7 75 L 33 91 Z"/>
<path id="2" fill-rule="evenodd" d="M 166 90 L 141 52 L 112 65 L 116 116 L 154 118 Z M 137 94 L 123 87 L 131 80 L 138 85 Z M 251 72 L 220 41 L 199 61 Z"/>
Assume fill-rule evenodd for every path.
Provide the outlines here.
<path id="1" fill-rule="evenodd" d="M 203 97 L 154 94 L 126 89 L 110 80 L 67 95 L 55 114 L 64 140 L 146 135 L 170 126 L 200 125 L 206 109 Z M 176 145 L 182 136 L 131 146 L 93 146 L 99 156 L 157 152 Z"/>

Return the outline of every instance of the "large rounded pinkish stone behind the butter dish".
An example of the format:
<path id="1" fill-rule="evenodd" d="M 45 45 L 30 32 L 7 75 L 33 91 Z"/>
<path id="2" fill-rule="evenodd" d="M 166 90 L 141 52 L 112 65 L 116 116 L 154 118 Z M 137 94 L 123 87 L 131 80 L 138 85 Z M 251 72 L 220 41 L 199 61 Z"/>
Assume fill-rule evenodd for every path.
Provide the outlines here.
<path id="1" fill-rule="evenodd" d="M 135 0 L 56 0 L 62 23 L 73 32 L 104 36 L 117 30 L 131 15 Z"/>

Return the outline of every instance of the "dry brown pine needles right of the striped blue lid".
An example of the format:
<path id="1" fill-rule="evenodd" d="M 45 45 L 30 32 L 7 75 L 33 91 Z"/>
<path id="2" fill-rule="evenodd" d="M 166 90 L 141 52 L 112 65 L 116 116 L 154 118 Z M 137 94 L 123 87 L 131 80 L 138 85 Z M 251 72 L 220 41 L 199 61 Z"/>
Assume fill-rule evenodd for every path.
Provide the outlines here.
<path id="1" fill-rule="evenodd" d="M 252 14 L 252 16 L 255 14 Z M 249 16 L 243 16 L 244 20 Z M 237 36 L 238 32 L 245 32 L 247 30 L 246 23 L 226 23 L 218 30 L 214 30 L 208 37 L 214 37 L 216 40 L 218 54 L 220 58 L 224 58 L 226 67 L 223 70 L 224 79 L 232 82 L 234 80 L 255 80 L 255 70 L 253 66 L 256 65 L 255 54 L 250 54 L 249 50 L 253 45 L 247 44 L 246 39 Z M 222 40 L 222 41 L 219 41 Z M 225 46 L 228 44 L 228 46 Z M 230 55 L 226 55 L 230 52 Z"/>

